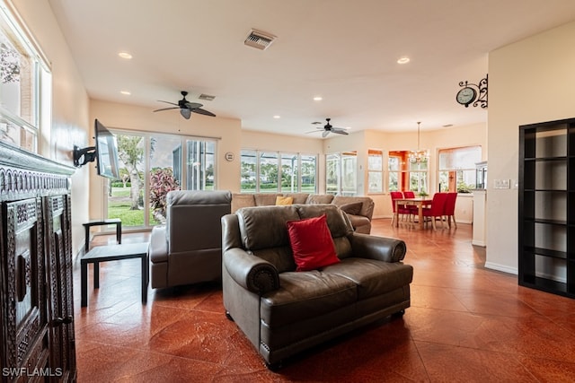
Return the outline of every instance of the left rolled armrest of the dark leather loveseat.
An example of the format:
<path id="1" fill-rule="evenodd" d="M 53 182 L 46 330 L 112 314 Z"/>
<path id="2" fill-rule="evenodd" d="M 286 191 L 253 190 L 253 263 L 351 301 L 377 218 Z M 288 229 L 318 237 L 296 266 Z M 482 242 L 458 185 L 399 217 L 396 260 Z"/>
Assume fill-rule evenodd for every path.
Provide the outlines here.
<path id="1" fill-rule="evenodd" d="M 223 255 L 227 274 L 244 289 L 263 295 L 279 289 L 278 270 L 270 262 L 242 248 L 230 248 Z"/>

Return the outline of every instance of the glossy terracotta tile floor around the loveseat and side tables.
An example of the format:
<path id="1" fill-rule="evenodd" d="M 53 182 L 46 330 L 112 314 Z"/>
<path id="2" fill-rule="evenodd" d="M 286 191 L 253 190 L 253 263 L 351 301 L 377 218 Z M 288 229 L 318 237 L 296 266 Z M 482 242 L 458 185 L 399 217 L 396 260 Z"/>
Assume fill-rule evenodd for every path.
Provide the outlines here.
<path id="1" fill-rule="evenodd" d="M 149 289 L 140 301 L 138 259 L 101 265 L 75 334 L 80 382 L 573 382 L 575 300 L 517 285 L 483 268 L 471 225 L 419 231 L 374 220 L 373 234 L 406 241 L 411 308 L 300 355 L 279 372 L 226 319 L 217 284 Z M 98 236 L 93 245 L 113 243 Z M 147 240 L 125 234 L 123 243 Z M 513 240 L 513 239 L 509 239 Z M 92 271 L 90 272 L 90 276 Z"/>

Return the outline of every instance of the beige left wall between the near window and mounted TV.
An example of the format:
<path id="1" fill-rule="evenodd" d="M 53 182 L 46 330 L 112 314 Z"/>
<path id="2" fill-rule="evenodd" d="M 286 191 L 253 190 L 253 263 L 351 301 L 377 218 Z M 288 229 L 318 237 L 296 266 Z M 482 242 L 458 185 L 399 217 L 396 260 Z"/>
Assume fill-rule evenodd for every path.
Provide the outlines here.
<path id="1" fill-rule="evenodd" d="M 40 154 L 73 166 L 74 144 L 88 143 L 88 96 L 75 67 L 66 40 L 47 0 L 13 0 L 13 5 L 31 30 L 51 64 L 52 125 L 42 126 Z M 88 220 L 88 170 L 76 170 L 72 177 L 72 246 L 75 253 L 84 246 L 82 222 Z"/>

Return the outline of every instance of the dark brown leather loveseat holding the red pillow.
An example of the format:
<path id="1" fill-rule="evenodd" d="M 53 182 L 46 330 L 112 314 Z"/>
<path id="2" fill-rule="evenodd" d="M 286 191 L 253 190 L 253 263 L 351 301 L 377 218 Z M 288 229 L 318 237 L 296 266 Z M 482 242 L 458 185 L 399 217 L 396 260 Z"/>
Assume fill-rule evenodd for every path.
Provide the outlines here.
<path id="1" fill-rule="evenodd" d="M 327 216 L 340 263 L 296 272 L 288 221 Z M 403 240 L 353 231 L 335 205 L 246 207 L 222 217 L 226 315 L 268 367 L 410 306 Z"/>

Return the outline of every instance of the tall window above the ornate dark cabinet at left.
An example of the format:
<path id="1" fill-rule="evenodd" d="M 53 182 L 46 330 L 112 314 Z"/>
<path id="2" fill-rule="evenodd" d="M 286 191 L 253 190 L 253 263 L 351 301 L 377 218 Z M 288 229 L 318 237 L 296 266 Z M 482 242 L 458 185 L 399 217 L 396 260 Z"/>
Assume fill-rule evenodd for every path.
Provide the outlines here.
<path id="1" fill-rule="evenodd" d="M 38 152 L 40 125 L 49 123 L 51 74 L 11 11 L 0 4 L 0 140 Z"/>

